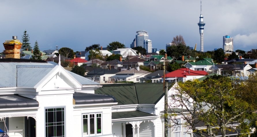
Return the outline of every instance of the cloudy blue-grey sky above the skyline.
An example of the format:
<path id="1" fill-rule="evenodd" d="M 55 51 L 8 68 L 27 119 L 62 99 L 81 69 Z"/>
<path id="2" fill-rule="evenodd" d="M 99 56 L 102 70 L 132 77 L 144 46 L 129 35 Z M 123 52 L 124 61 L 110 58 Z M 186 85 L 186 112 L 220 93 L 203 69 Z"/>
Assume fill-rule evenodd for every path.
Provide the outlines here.
<path id="1" fill-rule="evenodd" d="M 256 0 L 202 0 L 204 51 L 222 48 L 234 38 L 234 51 L 257 49 Z M 0 42 L 23 32 L 41 51 L 68 47 L 84 51 L 119 41 L 130 47 L 136 31 L 145 30 L 152 48 L 165 49 L 176 35 L 200 51 L 200 0 L 1 0 Z M 0 52 L 4 50 L 0 46 Z"/>

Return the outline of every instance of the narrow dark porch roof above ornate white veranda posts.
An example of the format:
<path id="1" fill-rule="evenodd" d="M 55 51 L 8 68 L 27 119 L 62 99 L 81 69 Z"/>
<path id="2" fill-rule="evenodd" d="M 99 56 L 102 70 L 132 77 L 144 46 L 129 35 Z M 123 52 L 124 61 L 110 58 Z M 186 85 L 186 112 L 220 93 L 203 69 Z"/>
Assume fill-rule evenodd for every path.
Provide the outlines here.
<path id="1" fill-rule="evenodd" d="M 132 118 L 132 117 L 150 117 L 157 116 L 142 111 L 125 111 L 125 112 L 112 112 L 112 119 Z"/>

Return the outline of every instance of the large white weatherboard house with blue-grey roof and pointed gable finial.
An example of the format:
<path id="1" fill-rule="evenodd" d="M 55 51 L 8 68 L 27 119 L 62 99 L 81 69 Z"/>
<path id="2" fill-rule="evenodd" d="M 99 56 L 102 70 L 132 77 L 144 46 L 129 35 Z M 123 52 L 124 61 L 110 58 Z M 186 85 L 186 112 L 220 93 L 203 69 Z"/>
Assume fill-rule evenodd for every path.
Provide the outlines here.
<path id="1" fill-rule="evenodd" d="M 56 63 L 0 59 L 0 128 L 10 137 L 112 137 L 112 96 Z"/>

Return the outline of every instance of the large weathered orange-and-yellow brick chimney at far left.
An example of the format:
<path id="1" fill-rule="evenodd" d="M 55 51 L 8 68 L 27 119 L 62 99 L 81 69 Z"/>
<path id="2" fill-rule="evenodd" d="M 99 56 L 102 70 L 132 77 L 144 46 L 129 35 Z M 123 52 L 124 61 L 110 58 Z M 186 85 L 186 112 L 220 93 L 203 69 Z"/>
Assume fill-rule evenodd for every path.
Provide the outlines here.
<path id="1" fill-rule="evenodd" d="M 5 40 L 3 47 L 5 48 L 5 58 L 20 59 L 20 48 L 22 43 L 17 40 L 17 36 L 12 36 L 12 40 Z"/>

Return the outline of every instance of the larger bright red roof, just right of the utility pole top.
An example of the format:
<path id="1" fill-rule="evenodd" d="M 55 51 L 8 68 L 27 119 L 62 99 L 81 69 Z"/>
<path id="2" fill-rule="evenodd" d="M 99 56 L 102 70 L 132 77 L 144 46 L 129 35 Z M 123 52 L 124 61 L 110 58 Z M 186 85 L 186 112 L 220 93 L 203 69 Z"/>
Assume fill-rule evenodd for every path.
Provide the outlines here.
<path id="1" fill-rule="evenodd" d="M 166 74 L 166 78 L 183 78 L 183 77 L 187 77 L 187 76 L 205 76 L 208 75 L 207 72 L 205 71 L 194 71 L 194 70 L 190 70 L 188 68 L 181 68 L 178 70 L 175 70 L 173 72 L 170 72 L 168 74 Z"/>

